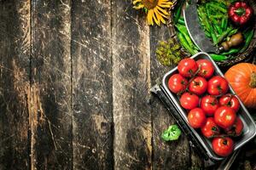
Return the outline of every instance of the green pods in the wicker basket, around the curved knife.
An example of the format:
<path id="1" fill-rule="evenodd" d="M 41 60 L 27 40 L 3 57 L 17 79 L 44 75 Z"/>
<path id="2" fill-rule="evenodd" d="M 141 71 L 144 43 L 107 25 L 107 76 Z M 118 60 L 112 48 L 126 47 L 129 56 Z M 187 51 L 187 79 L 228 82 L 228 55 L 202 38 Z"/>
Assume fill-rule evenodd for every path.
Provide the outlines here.
<path id="1" fill-rule="evenodd" d="M 235 55 L 243 53 L 247 50 L 253 35 L 253 27 L 247 29 L 237 28 L 234 26 L 228 17 L 228 6 L 236 0 L 212 0 L 201 1 L 197 8 L 199 20 L 201 26 L 205 31 L 206 37 L 212 40 L 213 45 L 218 46 L 221 42 L 229 40 L 229 38 L 241 31 L 244 37 L 244 42 L 236 47 L 230 48 L 222 54 L 210 54 L 215 61 L 223 61 L 226 59 L 233 59 Z M 189 32 L 185 27 L 185 22 L 181 14 L 184 1 L 181 0 L 178 7 L 175 9 L 174 23 L 177 30 L 177 37 L 183 48 L 185 48 L 190 54 L 195 54 L 199 49 L 195 46 L 189 37 Z"/>

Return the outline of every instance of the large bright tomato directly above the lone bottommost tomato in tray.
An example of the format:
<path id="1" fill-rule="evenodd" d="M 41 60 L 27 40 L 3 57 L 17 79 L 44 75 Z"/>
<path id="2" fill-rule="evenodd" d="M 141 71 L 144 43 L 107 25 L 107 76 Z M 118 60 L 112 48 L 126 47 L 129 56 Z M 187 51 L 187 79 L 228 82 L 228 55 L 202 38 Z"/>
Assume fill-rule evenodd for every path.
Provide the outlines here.
<path id="1" fill-rule="evenodd" d="M 236 112 L 228 106 L 220 106 L 214 112 L 214 121 L 219 127 L 230 128 L 236 121 Z"/>

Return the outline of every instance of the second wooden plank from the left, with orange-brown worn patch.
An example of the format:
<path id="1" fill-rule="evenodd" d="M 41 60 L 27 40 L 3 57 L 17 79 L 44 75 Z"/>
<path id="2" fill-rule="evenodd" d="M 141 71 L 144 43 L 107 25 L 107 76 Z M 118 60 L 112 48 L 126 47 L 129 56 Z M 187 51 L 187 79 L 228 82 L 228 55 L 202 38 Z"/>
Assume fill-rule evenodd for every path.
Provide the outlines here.
<path id="1" fill-rule="evenodd" d="M 70 1 L 32 0 L 32 169 L 72 169 Z"/>

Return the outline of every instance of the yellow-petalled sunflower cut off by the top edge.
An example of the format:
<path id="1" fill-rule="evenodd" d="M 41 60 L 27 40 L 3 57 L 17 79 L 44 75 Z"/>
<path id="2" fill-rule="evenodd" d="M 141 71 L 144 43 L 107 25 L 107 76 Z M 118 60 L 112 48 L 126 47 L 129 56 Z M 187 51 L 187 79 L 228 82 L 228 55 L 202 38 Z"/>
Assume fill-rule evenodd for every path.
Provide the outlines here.
<path id="1" fill-rule="evenodd" d="M 171 8 L 173 3 L 170 0 L 133 0 L 133 8 L 145 9 L 147 13 L 148 25 L 154 26 L 154 22 L 160 26 L 160 23 L 166 24 L 169 14 L 167 8 Z"/>

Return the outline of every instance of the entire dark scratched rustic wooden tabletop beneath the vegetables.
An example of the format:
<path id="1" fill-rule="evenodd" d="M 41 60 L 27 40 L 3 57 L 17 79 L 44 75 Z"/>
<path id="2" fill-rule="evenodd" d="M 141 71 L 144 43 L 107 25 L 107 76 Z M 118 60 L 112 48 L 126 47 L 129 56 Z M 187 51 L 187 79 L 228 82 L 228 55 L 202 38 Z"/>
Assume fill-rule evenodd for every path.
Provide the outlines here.
<path id="1" fill-rule="evenodd" d="M 147 103 L 168 37 L 130 0 L 0 0 L 0 169 L 203 167 Z"/>

